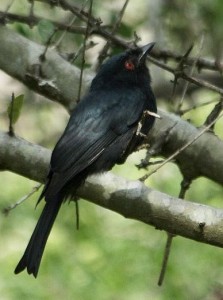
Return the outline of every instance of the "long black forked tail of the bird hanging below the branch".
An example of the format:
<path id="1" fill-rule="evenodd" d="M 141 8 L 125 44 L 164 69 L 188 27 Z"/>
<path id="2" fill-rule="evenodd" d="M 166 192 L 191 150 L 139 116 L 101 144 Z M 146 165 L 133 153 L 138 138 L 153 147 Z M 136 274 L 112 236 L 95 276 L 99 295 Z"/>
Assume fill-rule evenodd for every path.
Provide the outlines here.
<path id="1" fill-rule="evenodd" d="M 55 197 L 46 202 L 26 250 L 15 268 L 15 274 L 27 268 L 29 274 L 37 277 L 48 236 L 63 202 L 61 195 Z"/>

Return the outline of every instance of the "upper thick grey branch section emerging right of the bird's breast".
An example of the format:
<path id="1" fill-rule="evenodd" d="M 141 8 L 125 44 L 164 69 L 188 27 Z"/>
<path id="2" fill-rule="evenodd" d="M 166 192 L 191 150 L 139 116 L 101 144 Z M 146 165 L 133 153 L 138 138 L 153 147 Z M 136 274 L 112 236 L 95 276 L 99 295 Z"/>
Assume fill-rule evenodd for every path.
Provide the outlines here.
<path id="1" fill-rule="evenodd" d="M 169 157 L 186 143 L 194 140 L 202 128 L 196 128 L 180 117 L 166 112 L 159 112 L 162 119 L 156 120 L 151 132 L 151 144 L 158 139 L 167 140 L 162 144 L 158 154 Z M 163 136 L 164 135 L 164 136 Z M 176 163 L 187 179 L 199 176 L 207 177 L 223 184 L 223 141 L 213 132 L 208 131 L 201 135 L 194 143 L 176 157 Z"/>

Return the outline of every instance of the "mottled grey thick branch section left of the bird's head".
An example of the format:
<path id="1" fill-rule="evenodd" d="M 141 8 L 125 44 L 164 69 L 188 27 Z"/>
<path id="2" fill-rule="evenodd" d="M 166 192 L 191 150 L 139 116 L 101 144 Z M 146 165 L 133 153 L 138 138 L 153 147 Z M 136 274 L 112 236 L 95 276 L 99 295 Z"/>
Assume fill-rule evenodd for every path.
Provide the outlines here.
<path id="1" fill-rule="evenodd" d="M 53 99 L 67 108 L 78 95 L 80 70 L 49 49 L 42 61 L 45 47 L 40 46 L 7 27 L 0 25 L 0 69 L 23 82 L 33 91 Z M 89 73 L 89 72 L 88 72 Z M 91 75 L 83 78 L 83 91 Z"/>

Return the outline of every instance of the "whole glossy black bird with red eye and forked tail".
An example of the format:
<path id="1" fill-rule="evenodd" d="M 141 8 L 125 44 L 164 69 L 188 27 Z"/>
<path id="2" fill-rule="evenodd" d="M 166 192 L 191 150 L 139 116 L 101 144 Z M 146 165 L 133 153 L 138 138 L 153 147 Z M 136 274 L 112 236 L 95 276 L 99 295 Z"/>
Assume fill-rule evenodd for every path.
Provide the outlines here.
<path id="1" fill-rule="evenodd" d="M 155 114 L 145 117 L 145 112 L 157 111 L 146 67 L 153 46 L 150 43 L 111 57 L 72 112 L 53 150 L 48 179 L 38 200 L 45 198 L 46 204 L 16 274 L 27 268 L 37 276 L 61 204 L 75 197 L 86 177 L 123 163 L 144 142 L 155 120 Z"/>

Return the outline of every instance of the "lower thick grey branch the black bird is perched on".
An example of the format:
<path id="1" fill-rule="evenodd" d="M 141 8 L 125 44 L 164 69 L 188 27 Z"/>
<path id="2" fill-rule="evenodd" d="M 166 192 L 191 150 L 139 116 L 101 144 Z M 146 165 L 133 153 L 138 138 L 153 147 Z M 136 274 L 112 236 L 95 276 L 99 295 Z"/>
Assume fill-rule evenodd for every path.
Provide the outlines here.
<path id="1" fill-rule="evenodd" d="M 0 132 L 0 167 L 44 181 L 50 151 Z M 15 163 L 16 162 L 16 163 Z M 97 205 L 199 242 L 223 247 L 223 211 L 152 190 L 105 173 L 90 177 L 78 195 Z"/>

